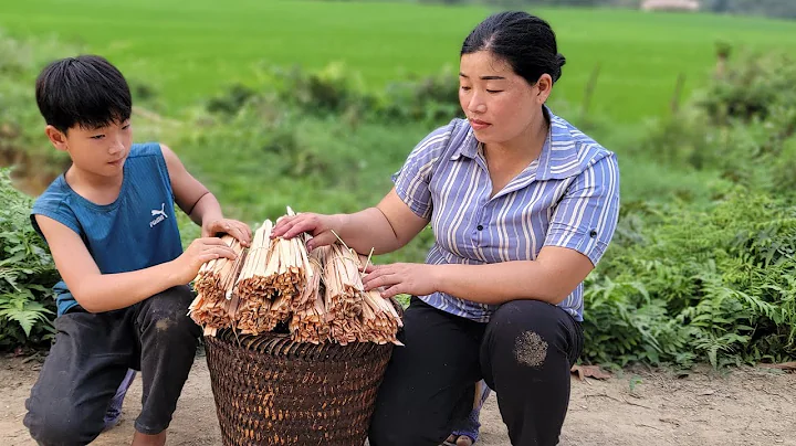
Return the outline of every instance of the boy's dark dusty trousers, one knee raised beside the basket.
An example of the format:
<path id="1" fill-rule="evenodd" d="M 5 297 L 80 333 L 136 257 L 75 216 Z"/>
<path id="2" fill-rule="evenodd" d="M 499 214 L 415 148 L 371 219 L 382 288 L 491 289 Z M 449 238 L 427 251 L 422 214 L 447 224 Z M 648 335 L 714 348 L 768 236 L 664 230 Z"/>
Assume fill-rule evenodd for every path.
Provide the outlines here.
<path id="1" fill-rule="evenodd" d="M 142 371 L 143 408 L 136 431 L 158 434 L 171 422 L 201 329 L 186 316 L 189 287 L 167 289 L 132 307 L 55 319 L 55 343 L 25 402 L 24 425 L 40 445 L 85 445 L 127 369 Z"/>

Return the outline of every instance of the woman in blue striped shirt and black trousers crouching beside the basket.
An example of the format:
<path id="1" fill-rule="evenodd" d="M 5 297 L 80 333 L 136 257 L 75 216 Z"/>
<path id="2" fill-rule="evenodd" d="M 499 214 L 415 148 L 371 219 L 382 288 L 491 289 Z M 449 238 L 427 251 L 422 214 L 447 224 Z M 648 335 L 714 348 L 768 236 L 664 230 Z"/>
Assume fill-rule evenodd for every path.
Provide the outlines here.
<path id="1" fill-rule="evenodd" d="M 464 40 L 454 119 L 426 137 L 376 208 L 298 214 L 274 236 L 368 253 L 406 245 L 429 223 L 425 264 L 371 267 L 366 289 L 410 294 L 379 389 L 373 446 L 439 445 L 473 407 L 474 383 L 498 394 L 514 445 L 555 445 L 583 347 L 583 280 L 619 209 L 619 170 L 546 106 L 564 57 L 540 18 L 503 12 Z"/>

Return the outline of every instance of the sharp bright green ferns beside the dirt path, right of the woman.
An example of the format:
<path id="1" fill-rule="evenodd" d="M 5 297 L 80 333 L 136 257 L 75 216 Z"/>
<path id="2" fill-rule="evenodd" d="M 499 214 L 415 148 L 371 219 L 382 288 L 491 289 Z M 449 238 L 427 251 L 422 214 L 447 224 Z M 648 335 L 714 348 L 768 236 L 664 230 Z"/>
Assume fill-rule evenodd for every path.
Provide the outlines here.
<path id="1" fill-rule="evenodd" d="M 586 359 L 721 367 L 796 355 L 794 240 L 796 202 L 762 194 L 624 214 L 587 279 Z"/>

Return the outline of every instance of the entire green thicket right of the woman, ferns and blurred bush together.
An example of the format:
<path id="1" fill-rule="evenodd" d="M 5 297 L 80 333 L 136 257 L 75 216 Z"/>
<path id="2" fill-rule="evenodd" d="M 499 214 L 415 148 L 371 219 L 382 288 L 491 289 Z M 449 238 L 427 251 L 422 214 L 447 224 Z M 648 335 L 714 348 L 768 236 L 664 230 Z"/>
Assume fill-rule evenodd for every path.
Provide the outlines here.
<path id="1" fill-rule="evenodd" d="M 796 64 L 751 55 L 638 145 L 715 172 L 712 204 L 625 203 L 587 279 L 591 362 L 714 367 L 796 355 Z"/>

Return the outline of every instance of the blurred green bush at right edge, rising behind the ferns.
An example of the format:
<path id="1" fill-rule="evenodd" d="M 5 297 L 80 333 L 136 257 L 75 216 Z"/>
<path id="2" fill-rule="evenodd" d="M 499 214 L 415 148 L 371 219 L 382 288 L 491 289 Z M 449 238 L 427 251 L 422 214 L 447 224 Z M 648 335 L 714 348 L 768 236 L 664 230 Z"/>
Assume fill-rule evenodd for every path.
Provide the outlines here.
<path id="1" fill-rule="evenodd" d="M 639 150 L 662 164 L 716 171 L 747 190 L 789 193 L 796 137 L 796 62 L 750 55 L 681 113 L 653 123 Z"/>

